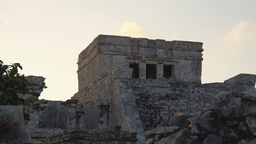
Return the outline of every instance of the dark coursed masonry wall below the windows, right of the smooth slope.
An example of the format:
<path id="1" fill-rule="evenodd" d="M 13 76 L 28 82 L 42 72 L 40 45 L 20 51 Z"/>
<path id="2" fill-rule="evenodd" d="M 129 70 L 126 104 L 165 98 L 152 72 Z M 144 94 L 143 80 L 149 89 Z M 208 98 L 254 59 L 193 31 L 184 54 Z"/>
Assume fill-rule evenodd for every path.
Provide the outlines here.
<path id="1" fill-rule="evenodd" d="M 194 113 L 212 106 L 212 98 L 226 91 L 224 83 L 193 84 L 161 79 L 132 79 L 131 87 L 144 130 L 167 126 L 177 112 Z"/>

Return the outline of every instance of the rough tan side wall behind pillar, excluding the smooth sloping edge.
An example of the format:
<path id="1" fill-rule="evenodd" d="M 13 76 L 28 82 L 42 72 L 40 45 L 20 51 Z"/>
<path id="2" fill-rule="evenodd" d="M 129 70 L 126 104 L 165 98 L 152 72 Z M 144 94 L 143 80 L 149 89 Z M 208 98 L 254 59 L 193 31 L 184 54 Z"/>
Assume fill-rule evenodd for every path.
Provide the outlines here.
<path id="1" fill-rule="evenodd" d="M 122 126 L 121 130 L 128 130 L 125 121 L 124 110 L 118 92 L 117 78 L 114 73 L 110 73 L 106 78 L 92 84 L 90 87 L 80 90 L 72 99 L 78 99 L 79 104 L 83 105 L 84 118 L 82 123 L 85 129 L 98 129 L 99 108 L 98 103 L 109 102 L 110 128 L 114 126 Z"/>

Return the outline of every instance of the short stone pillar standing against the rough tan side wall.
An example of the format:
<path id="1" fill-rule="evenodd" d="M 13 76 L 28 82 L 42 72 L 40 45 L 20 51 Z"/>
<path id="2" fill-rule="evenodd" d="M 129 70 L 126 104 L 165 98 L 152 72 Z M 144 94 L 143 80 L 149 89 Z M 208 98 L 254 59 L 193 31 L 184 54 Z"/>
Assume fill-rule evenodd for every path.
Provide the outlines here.
<path id="1" fill-rule="evenodd" d="M 108 119 L 109 119 L 109 102 L 100 102 L 98 104 L 99 107 L 99 125 L 98 128 L 107 128 L 108 127 Z"/>

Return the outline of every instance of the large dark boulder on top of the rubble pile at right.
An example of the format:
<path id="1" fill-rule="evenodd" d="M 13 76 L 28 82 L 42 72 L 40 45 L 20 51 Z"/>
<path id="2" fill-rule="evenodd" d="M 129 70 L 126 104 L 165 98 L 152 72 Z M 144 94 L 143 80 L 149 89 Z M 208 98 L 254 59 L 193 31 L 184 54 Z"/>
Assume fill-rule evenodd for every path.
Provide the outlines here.
<path id="1" fill-rule="evenodd" d="M 216 114 L 221 119 L 236 119 L 256 114 L 255 92 L 220 92 L 214 96 Z"/>

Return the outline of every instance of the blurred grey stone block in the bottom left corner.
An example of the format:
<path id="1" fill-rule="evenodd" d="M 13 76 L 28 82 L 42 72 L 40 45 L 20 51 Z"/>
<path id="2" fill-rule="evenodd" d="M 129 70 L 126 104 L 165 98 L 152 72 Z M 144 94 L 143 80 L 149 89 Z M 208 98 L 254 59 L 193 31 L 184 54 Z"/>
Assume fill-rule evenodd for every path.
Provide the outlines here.
<path id="1" fill-rule="evenodd" d="M 0 144 L 26 144 L 30 140 L 22 106 L 0 106 Z"/>

